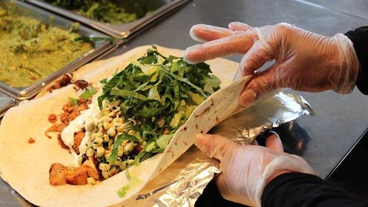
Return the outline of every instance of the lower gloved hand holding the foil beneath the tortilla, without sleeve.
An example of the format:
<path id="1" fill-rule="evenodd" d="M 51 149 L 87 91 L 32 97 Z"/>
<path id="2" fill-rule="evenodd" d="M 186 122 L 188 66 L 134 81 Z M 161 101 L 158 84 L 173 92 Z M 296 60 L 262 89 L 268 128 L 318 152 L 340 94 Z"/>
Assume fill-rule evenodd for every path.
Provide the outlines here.
<path id="1" fill-rule="evenodd" d="M 224 199 L 239 204 L 260 206 L 265 186 L 280 174 L 315 174 L 303 158 L 283 152 L 276 133 L 267 138 L 266 147 L 241 145 L 220 135 L 209 134 L 197 135 L 194 144 L 221 162 L 217 189 Z"/>

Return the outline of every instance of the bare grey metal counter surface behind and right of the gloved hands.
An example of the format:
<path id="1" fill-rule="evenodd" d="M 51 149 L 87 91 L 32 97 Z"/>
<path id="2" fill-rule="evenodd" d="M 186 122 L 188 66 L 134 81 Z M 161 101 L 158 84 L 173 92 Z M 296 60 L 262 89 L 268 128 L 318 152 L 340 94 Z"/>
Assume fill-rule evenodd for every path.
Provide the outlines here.
<path id="1" fill-rule="evenodd" d="M 189 36 L 193 24 L 227 26 L 233 21 L 246 22 L 251 26 L 288 22 L 323 35 L 345 33 L 368 24 L 368 20 L 362 17 L 303 0 L 194 0 L 108 56 L 153 43 L 185 49 L 196 44 Z M 241 56 L 228 58 L 240 61 Z M 315 117 L 298 119 L 310 135 L 301 156 L 325 178 L 367 128 L 368 97 L 360 94 L 358 89 L 347 95 L 335 92 L 296 93 L 302 94 L 316 112 Z"/>

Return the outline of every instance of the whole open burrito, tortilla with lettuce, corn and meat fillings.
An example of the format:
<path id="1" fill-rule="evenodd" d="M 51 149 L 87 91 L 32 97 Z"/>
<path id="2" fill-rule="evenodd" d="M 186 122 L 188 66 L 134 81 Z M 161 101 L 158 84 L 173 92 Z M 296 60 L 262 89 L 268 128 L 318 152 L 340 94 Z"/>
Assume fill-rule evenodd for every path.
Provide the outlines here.
<path id="1" fill-rule="evenodd" d="M 240 110 L 249 77 L 229 85 L 236 63 L 191 65 L 181 53 L 139 47 L 10 109 L 0 126 L 1 177 L 39 206 L 111 206 L 132 197 L 197 133 Z"/>

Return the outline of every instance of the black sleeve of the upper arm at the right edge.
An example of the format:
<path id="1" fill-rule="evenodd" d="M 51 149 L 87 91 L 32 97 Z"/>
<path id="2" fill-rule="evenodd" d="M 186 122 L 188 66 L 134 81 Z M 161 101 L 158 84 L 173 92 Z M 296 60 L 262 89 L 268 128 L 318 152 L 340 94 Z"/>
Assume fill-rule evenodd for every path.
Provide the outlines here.
<path id="1" fill-rule="evenodd" d="M 368 95 L 368 26 L 348 31 L 345 35 L 353 42 L 360 62 L 360 73 L 356 86 L 360 92 Z"/>

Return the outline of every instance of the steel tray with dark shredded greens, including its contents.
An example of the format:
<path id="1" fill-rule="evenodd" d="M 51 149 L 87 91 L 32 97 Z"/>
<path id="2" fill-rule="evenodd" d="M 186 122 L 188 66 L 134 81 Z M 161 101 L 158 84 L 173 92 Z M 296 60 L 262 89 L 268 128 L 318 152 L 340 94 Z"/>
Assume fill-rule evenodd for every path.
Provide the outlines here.
<path id="1" fill-rule="evenodd" d="M 128 41 L 190 0 L 24 0 Z"/>

